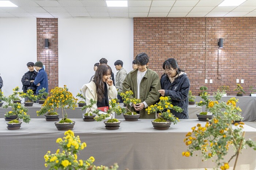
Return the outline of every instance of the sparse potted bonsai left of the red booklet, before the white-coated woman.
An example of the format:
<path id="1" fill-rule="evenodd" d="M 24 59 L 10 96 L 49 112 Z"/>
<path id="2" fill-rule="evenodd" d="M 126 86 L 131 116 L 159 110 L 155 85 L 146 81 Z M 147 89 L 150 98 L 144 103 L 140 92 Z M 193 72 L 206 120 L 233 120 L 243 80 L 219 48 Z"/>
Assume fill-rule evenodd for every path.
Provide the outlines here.
<path id="1" fill-rule="evenodd" d="M 99 110 L 98 109 L 95 109 L 93 110 L 92 107 L 94 104 L 96 104 L 97 101 L 93 100 L 92 98 L 90 99 L 90 104 L 89 105 L 84 105 L 82 107 L 82 111 L 86 109 L 86 113 L 84 113 L 84 118 L 83 118 L 83 121 L 94 121 L 94 117 L 96 115 L 98 115 L 99 113 Z"/>

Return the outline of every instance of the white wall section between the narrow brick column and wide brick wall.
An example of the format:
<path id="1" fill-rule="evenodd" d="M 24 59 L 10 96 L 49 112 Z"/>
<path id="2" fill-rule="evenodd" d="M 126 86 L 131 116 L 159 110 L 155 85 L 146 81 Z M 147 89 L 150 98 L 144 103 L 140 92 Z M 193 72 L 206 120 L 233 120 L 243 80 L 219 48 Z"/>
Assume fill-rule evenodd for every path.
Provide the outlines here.
<path id="1" fill-rule="evenodd" d="M 94 75 L 93 66 L 106 58 L 116 75 L 114 62 L 124 62 L 130 72 L 133 61 L 132 19 L 61 19 L 59 28 L 59 86 L 74 96 Z"/>

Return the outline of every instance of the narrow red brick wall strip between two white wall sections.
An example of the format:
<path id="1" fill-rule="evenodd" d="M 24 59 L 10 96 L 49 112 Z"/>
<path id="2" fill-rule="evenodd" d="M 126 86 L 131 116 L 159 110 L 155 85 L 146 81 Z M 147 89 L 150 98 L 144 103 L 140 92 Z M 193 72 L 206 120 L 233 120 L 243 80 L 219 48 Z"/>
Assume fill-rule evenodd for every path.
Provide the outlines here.
<path id="1" fill-rule="evenodd" d="M 49 49 L 45 49 L 46 38 L 49 39 Z M 59 84 L 58 19 L 37 18 L 37 61 L 45 65 L 50 92 Z"/>

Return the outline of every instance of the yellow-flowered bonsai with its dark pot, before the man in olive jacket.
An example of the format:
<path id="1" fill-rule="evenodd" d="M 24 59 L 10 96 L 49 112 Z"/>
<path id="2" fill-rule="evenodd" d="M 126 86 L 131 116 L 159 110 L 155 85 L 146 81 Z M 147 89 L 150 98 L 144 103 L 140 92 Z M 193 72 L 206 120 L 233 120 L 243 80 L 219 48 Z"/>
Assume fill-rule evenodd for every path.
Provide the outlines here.
<path id="1" fill-rule="evenodd" d="M 140 114 L 130 111 L 127 107 L 127 105 L 129 105 L 130 103 L 138 104 L 141 102 L 141 100 L 138 98 L 132 98 L 132 94 L 132 90 L 129 90 L 125 93 L 120 93 L 120 96 L 123 98 L 123 103 L 126 105 L 127 109 L 127 112 L 123 113 L 124 119 L 126 121 L 137 121 L 140 117 Z"/>

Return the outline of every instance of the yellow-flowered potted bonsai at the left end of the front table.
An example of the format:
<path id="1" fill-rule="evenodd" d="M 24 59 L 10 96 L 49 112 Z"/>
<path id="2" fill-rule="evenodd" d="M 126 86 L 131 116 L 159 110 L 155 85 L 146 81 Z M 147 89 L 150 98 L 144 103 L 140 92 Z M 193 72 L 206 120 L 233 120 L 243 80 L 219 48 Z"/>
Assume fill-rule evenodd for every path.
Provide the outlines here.
<path id="1" fill-rule="evenodd" d="M 22 124 L 19 119 L 23 119 L 23 122 L 29 123 L 30 122 L 30 116 L 27 115 L 28 109 L 25 108 L 20 103 L 8 103 L 4 105 L 4 108 L 7 108 L 8 106 L 12 107 L 12 111 L 6 112 L 5 120 L 8 121 L 7 123 L 7 129 L 8 130 L 18 130 L 20 128 L 20 125 Z"/>

